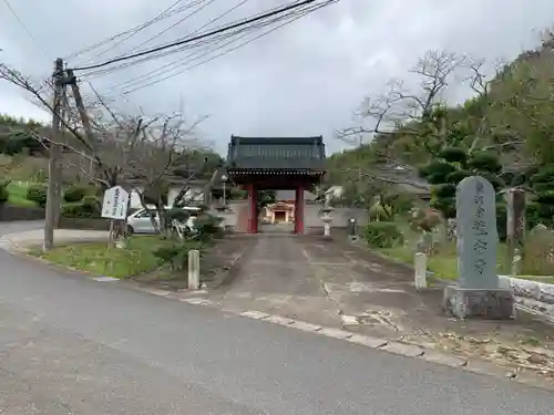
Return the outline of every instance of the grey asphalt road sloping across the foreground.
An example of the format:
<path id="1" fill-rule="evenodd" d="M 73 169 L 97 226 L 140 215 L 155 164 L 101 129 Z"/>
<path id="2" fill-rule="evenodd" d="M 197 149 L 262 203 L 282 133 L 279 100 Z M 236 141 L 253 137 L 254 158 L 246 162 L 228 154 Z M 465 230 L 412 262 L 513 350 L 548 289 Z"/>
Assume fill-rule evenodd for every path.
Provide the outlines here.
<path id="1" fill-rule="evenodd" d="M 534 415 L 537 388 L 0 251 L 0 414 Z"/>

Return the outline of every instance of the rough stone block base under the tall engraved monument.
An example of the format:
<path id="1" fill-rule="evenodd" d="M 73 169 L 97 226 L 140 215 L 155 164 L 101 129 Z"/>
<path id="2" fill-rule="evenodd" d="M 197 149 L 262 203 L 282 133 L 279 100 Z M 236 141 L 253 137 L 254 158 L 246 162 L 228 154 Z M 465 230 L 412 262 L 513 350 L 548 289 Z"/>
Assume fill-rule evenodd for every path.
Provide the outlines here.
<path id="1" fill-rule="evenodd" d="M 511 290 L 468 289 L 458 286 L 444 288 L 444 312 L 458 319 L 512 320 L 515 319 L 515 301 Z"/>

